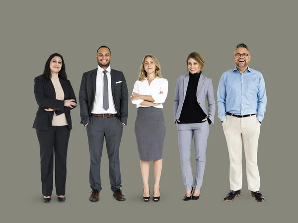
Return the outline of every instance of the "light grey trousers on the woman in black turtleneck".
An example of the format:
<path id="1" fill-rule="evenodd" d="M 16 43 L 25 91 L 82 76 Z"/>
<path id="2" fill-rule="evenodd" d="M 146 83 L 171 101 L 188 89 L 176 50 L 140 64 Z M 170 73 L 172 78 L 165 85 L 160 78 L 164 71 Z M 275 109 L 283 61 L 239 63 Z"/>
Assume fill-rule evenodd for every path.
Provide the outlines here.
<path id="1" fill-rule="evenodd" d="M 206 147 L 209 135 L 208 121 L 202 123 L 178 124 L 178 140 L 181 161 L 183 182 L 186 190 L 193 185 L 193 175 L 190 163 L 191 144 L 194 137 L 196 156 L 196 178 L 195 189 L 200 189 L 203 183 L 203 176 L 206 161 Z"/>

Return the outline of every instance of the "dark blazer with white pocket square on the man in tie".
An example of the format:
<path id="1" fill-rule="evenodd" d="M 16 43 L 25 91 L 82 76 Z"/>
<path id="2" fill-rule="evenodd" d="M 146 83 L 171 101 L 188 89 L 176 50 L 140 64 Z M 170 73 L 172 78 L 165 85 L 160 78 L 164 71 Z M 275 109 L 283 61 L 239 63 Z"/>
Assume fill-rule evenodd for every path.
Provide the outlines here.
<path id="1" fill-rule="evenodd" d="M 97 68 L 83 73 L 79 88 L 80 117 L 83 125 L 89 123 L 96 91 Z M 117 84 L 116 84 L 117 82 Z M 121 71 L 111 69 L 111 87 L 115 109 L 120 121 L 127 124 L 128 90 L 125 77 Z"/>

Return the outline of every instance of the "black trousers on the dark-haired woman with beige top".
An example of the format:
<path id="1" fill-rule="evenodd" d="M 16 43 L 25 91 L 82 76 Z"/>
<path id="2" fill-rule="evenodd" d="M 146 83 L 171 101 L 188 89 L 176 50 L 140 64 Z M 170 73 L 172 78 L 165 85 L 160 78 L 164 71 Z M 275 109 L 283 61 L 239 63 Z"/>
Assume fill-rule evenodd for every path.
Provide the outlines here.
<path id="1" fill-rule="evenodd" d="M 66 159 L 71 130 L 68 125 L 53 126 L 51 130 L 36 130 L 40 146 L 42 194 L 53 191 L 53 160 L 55 151 L 55 186 L 57 195 L 65 195 Z"/>

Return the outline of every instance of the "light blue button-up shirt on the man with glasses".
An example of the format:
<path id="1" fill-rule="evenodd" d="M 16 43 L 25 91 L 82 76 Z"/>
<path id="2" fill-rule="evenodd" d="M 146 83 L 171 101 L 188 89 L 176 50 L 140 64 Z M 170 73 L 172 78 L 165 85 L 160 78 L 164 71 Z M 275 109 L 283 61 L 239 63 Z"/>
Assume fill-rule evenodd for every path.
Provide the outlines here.
<path id="1" fill-rule="evenodd" d="M 257 114 L 262 121 L 266 111 L 265 81 L 261 72 L 249 68 L 240 73 L 236 67 L 223 73 L 218 87 L 219 118 L 226 112 L 238 115 Z"/>

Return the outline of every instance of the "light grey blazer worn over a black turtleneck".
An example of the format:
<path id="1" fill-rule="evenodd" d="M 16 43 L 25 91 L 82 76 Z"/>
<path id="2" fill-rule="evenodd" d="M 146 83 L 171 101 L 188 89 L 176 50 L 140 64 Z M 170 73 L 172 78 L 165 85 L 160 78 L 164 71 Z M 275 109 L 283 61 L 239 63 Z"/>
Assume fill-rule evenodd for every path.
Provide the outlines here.
<path id="1" fill-rule="evenodd" d="M 187 90 L 187 85 L 189 81 L 189 74 L 179 76 L 177 83 L 176 83 L 176 90 L 175 90 L 175 98 L 174 98 L 174 117 L 175 120 L 179 119 L 185 95 Z M 205 98 L 208 101 L 208 113 L 206 109 Z M 201 74 L 198 88 L 197 88 L 197 101 L 201 106 L 202 110 L 206 114 L 206 118 L 209 119 L 214 123 L 214 114 L 215 114 L 215 100 L 214 100 L 214 92 L 213 92 L 213 84 L 212 79 L 205 77 Z"/>

